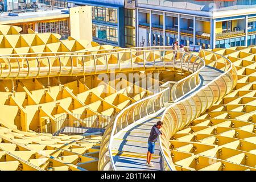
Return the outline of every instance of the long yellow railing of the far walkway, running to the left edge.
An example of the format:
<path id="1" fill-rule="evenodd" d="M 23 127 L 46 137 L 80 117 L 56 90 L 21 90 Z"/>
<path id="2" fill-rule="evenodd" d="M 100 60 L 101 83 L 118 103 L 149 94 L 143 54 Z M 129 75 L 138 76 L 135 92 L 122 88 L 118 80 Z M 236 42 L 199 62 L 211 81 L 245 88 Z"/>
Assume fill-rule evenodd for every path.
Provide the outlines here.
<path id="1" fill-rule="evenodd" d="M 103 69 L 107 69 L 106 71 L 109 72 L 109 65 L 112 65 L 112 66 L 115 65 L 115 67 L 112 68 L 112 70 L 117 69 L 117 71 L 121 71 L 122 72 L 122 71 L 125 71 L 125 69 L 123 69 L 123 68 L 130 68 L 130 67 L 131 68 L 136 68 L 137 65 L 139 65 L 139 64 L 141 64 L 141 66 L 142 66 L 142 62 L 141 63 L 134 63 L 133 62 L 134 61 L 133 55 L 135 55 L 135 56 L 142 56 L 142 55 L 145 55 L 146 53 L 153 53 L 153 55 L 155 55 L 155 52 L 159 52 L 160 54 L 164 54 L 164 53 L 166 53 L 168 51 L 174 52 L 174 50 L 172 50 L 172 49 L 155 49 L 154 47 L 152 47 L 150 49 L 147 49 L 147 48 L 150 48 L 150 47 L 134 48 L 134 49 L 130 49 L 129 52 L 128 51 L 115 52 L 117 54 L 117 57 L 118 57 L 118 63 L 120 62 L 120 60 L 122 60 L 118 56 L 121 53 L 129 53 L 129 55 L 131 55 L 131 57 L 129 57 L 129 58 L 127 58 L 125 60 L 125 61 L 129 61 L 130 60 L 130 63 L 127 63 L 127 62 L 126 63 L 122 63 L 122 64 L 125 64 L 125 66 L 122 67 L 122 69 L 119 68 L 119 66 L 120 66 L 119 64 L 117 65 L 117 64 L 110 64 L 110 63 L 108 63 L 107 59 L 103 60 L 103 61 L 105 61 L 104 65 L 97 64 L 96 63 L 96 59 L 92 59 L 92 56 L 96 56 L 95 54 L 89 54 L 89 55 L 60 55 L 60 56 L 57 56 L 57 58 L 59 59 L 59 65 L 56 65 L 54 67 L 51 64 L 49 64 L 49 59 L 53 58 L 55 60 L 52 60 L 52 61 L 56 61 L 56 56 L 41 56 L 41 57 L 3 57 L 2 56 L 2 57 L 0 57 L 0 61 L 4 61 L 5 64 L 7 62 L 8 67 L 9 67 L 9 71 L 7 71 L 7 68 L 3 69 L 5 71 L 5 73 L 3 73 L 3 71 L 2 71 L 2 79 L 9 79 L 9 78 L 19 79 L 19 78 L 28 78 L 28 77 L 45 77 L 47 72 L 48 72 L 48 74 L 47 74 L 48 77 L 52 77 L 52 76 L 67 76 L 67 75 L 71 75 L 70 70 L 76 72 L 73 75 L 84 76 L 84 75 L 91 75 L 90 72 L 93 72 L 93 73 L 102 72 L 102 71 L 104 71 Z M 166 47 L 166 48 L 170 48 L 170 47 Z M 175 51 L 175 52 L 183 53 L 181 51 Z M 171 53 L 171 52 L 168 52 L 168 53 Z M 111 56 L 111 55 L 113 55 L 113 52 L 98 53 L 97 57 L 105 56 L 107 58 L 108 56 Z M 159 55 L 159 56 L 162 56 L 162 55 Z M 84 71 L 84 65 L 74 66 L 72 61 L 71 61 L 71 63 L 72 63 L 71 65 L 68 65 L 68 66 L 65 66 L 65 65 L 62 66 L 61 65 L 61 64 L 65 63 L 65 62 L 63 62 L 63 60 L 65 61 L 65 59 L 66 59 L 66 61 L 68 59 L 76 59 L 76 58 L 79 60 L 82 57 L 83 57 L 83 59 L 89 57 L 89 61 L 90 62 L 88 62 L 88 63 L 90 64 L 90 66 L 86 67 L 88 69 L 86 71 L 86 73 Z M 102 57 L 100 57 L 100 58 L 102 58 Z M 32 62 L 29 61 L 31 59 L 32 59 Z M 162 59 L 164 59 L 163 56 L 162 56 Z M 19 69 L 18 72 L 17 72 L 17 69 L 15 67 L 12 68 L 11 60 L 15 60 L 18 64 L 20 62 L 23 63 L 23 61 L 26 60 L 26 63 L 27 63 L 27 65 L 25 64 L 26 68 L 23 67 L 22 69 Z M 40 61 L 46 61 L 46 60 L 48 60 L 48 65 L 44 65 L 44 67 L 42 67 L 41 65 L 38 65 L 38 67 L 40 67 L 40 69 L 38 69 L 38 67 L 35 66 L 35 65 L 32 65 L 32 66 L 30 65 L 30 64 L 33 64 L 34 61 L 39 61 L 39 63 L 40 63 Z M 94 62 L 94 68 L 92 66 L 92 62 Z M 155 67 L 158 66 L 158 67 L 162 67 L 163 69 L 166 69 L 166 67 L 170 66 L 168 64 L 165 64 L 166 61 L 164 61 L 164 60 L 160 60 L 159 63 L 161 65 L 159 65 L 159 64 L 155 63 L 155 59 L 154 60 L 150 59 L 150 61 L 147 61 L 147 63 L 146 63 L 145 60 L 143 61 L 143 70 L 148 69 L 148 67 L 145 66 L 146 64 L 148 64 L 148 62 L 150 62 L 151 64 L 153 64 L 153 62 L 154 62 Z M 15 62 L 12 63 L 12 64 L 15 64 Z M 129 64 L 131 64 L 130 67 L 127 67 Z M 64 69 L 65 67 L 68 68 L 68 70 Z M 99 67 L 104 67 L 104 68 L 99 69 Z M 47 71 L 46 68 L 48 68 L 48 71 Z M 52 71 L 52 69 L 55 69 L 55 71 Z M 131 69 L 131 71 L 133 71 L 133 69 Z M 189 70 L 188 70 L 188 72 L 189 72 Z M 13 74 L 11 74 L 11 73 L 13 73 Z M 5 75 L 5 76 L 3 76 L 3 75 Z M 15 76 L 13 76 L 13 75 L 15 75 Z M 22 76 L 20 76 L 20 75 L 22 75 Z"/>

